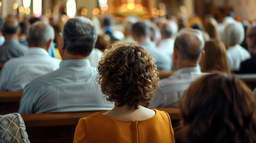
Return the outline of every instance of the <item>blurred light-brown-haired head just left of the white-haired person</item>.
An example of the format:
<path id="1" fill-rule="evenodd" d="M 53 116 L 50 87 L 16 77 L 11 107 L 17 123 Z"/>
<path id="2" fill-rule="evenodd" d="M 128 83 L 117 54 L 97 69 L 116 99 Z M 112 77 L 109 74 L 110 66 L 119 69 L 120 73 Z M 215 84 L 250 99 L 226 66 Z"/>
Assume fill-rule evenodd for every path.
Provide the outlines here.
<path id="1" fill-rule="evenodd" d="M 207 18 L 204 21 L 204 31 L 209 34 L 210 38 L 219 40 L 218 22 L 214 18 Z"/>

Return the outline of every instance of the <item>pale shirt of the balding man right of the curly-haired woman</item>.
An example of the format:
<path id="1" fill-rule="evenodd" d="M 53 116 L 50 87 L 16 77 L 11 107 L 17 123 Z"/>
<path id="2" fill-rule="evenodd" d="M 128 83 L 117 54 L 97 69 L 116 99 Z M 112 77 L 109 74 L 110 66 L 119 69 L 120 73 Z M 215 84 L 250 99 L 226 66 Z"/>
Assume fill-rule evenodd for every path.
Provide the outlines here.
<path id="1" fill-rule="evenodd" d="M 198 67 L 187 67 L 177 70 L 173 75 L 160 81 L 160 88 L 151 99 L 148 108 L 177 107 L 183 92 L 201 73 Z"/>

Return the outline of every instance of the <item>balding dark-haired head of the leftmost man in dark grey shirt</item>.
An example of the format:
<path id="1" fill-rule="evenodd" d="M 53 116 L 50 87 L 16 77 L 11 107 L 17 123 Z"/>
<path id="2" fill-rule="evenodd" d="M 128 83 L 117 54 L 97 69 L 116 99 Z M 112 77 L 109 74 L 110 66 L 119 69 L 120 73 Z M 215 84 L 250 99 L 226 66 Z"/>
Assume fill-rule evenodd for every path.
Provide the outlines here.
<path id="1" fill-rule="evenodd" d="M 17 34 L 19 33 L 19 22 L 15 19 L 9 19 L 4 22 L 2 31 L 4 34 Z"/>

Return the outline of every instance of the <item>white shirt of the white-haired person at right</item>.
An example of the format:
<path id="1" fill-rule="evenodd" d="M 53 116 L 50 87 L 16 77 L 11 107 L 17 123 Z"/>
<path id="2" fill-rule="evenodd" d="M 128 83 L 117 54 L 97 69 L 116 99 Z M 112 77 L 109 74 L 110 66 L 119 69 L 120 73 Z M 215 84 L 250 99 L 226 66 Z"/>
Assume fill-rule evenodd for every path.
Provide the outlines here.
<path id="1" fill-rule="evenodd" d="M 251 58 L 250 53 L 238 44 L 227 49 L 227 61 L 230 70 L 239 70 L 241 62 L 249 58 Z"/>

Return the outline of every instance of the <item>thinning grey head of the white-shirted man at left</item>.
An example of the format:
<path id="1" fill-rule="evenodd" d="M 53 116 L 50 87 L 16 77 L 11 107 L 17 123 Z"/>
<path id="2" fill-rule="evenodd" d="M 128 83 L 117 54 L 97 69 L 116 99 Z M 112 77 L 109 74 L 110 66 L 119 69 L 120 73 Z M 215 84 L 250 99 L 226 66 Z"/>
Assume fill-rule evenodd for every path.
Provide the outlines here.
<path id="1" fill-rule="evenodd" d="M 45 47 L 50 40 L 54 39 L 54 29 L 45 22 L 35 22 L 29 29 L 29 46 Z"/>

